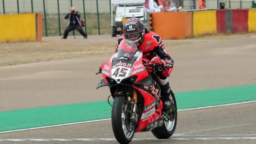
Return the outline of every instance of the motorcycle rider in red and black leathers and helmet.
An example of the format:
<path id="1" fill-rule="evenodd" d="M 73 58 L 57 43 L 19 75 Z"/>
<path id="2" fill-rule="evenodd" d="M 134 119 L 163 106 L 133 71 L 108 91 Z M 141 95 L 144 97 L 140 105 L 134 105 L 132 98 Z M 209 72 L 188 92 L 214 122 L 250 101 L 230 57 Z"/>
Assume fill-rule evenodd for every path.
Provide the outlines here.
<path id="1" fill-rule="evenodd" d="M 148 31 L 144 23 L 139 18 L 128 19 L 123 26 L 123 34 L 118 38 L 114 52 L 118 51 L 119 44 L 122 40 L 129 39 L 133 41 L 143 52 L 143 58 L 148 59 L 148 66 L 152 66 L 159 76 L 161 96 L 163 101 L 163 112 L 172 114 L 174 111 L 174 101 L 171 95 L 168 77 L 173 70 L 174 60 L 167 52 L 161 37 L 153 32 Z M 100 66 L 100 70 L 104 64 Z"/>

